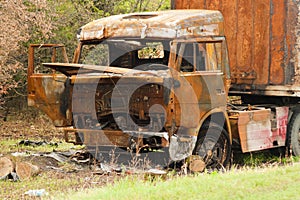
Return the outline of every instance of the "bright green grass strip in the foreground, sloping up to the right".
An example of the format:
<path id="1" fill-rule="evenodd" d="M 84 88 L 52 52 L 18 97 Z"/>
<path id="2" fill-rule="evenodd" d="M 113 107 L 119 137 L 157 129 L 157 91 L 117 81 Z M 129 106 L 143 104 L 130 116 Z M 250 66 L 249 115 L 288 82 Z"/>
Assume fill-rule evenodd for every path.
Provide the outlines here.
<path id="1" fill-rule="evenodd" d="M 300 199 L 300 164 L 231 170 L 167 181 L 126 177 L 113 185 L 61 199 Z M 56 199 L 56 198 L 55 198 Z"/>

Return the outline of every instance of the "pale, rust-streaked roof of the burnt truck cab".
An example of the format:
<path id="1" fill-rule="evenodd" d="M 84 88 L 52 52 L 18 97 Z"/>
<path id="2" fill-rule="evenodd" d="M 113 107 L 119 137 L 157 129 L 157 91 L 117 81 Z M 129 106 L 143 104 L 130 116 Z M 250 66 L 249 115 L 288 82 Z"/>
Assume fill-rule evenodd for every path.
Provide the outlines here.
<path id="1" fill-rule="evenodd" d="M 110 37 L 182 38 L 223 36 L 223 16 L 212 10 L 167 10 L 114 15 L 80 29 L 79 40 Z"/>

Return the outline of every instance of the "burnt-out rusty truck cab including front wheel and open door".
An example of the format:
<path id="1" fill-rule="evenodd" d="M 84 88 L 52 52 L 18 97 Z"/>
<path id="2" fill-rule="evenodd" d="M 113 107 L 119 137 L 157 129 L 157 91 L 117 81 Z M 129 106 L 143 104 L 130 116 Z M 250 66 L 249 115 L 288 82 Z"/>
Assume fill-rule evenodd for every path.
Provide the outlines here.
<path id="1" fill-rule="evenodd" d="M 67 141 L 74 134 L 99 149 L 228 161 L 230 70 L 219 11 L 111 16 L 81 27 L 78 40 L 72 63 L 43 64 L 52 73 L 33 73 L 29 63 L 29 105 L 64 127 Z"/>

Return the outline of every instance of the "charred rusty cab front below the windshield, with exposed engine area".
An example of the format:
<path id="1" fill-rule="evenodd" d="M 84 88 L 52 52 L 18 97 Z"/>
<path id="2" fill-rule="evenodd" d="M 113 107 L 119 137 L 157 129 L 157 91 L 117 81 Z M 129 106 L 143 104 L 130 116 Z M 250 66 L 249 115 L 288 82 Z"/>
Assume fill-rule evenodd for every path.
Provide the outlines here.
<path id="1" fill-rule="evenodd" d="M 164 110 L 167 107 L 164 99 L 164 78 L 141 73 L 140 71 L 139 75 L 123 76 L 122 84 L 118 84 L 121 77 L 112 74 L 73 76 L 72 84 L 76 90 L 72 104 L 75 129 L 67 131 L 77 131 L 84 144 L 91 146 L 168 146 L 168 133 L 161 132 L 165 126 Z M 147 81 L 149 84 L 139 87 L 132 94 L 126 92 L 138 82 Z M 91 85 L 93 83 L 97 84 L 96 88 Z M 116 94 L 114 91 L 117 91 Z M 160 105 L 162 109 L 155 105 Z M 141 129 L 142 127 L 145 129 Z M 143 138 L 145 135 L 146 138 Z"/>

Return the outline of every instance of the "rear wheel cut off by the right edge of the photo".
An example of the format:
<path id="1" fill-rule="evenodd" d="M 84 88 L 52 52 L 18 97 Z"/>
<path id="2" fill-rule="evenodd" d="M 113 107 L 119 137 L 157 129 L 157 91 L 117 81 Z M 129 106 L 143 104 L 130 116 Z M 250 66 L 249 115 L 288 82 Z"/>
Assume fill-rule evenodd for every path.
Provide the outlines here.
<path id="1" fill-rule="evenodd" d="M 295 156 L 300 156 L 300 112 L 295 112 L 289 122 L 287 145 Z"/>

